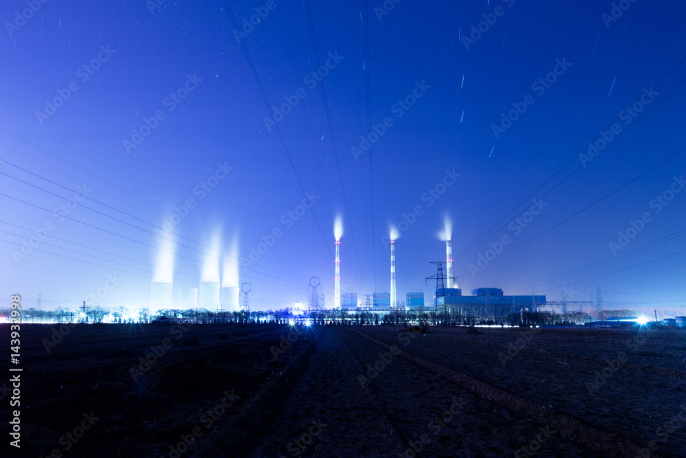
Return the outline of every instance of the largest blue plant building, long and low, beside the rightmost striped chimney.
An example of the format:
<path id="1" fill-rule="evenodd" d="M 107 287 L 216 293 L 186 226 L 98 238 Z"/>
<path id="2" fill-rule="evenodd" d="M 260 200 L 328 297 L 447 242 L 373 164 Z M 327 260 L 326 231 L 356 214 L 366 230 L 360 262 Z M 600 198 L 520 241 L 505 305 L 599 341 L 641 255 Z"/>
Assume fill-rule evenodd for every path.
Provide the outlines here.
<path id="1" fill-rule="evenodd" d="M 477 288 L 471 296 L 463 296 L 458 288 L 443 288 L 434 295 L 437 312 L 442 312 L 443 304 L 451 315 L 503 320 L 508 314 L 539 311 L 545 296 L 505 296 L 499 288 Z"/>

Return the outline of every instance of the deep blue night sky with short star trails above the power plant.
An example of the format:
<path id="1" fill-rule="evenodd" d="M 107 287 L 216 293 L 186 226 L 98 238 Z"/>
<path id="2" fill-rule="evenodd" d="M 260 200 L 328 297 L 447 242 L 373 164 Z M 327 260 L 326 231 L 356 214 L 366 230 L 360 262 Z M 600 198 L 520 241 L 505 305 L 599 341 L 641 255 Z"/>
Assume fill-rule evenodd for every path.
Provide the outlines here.
<path id="1" fill-rule="evenodd" d="M 242 26 L 255 14 L 253 8 L 266 3 L 231 1 L 230 6 Z M 326 62 L 329 52 L 343 56 L 314 89 L 305 80 L 316 70 L 316 60 L 303 3 L 275 1 L 275 8 L 243 38 L 272 106 L 283 104 L 298 88 L 305 90 L 279 122 L 301 189 L 278 133 L 265 127 L 269 112 L 223 1 L 167 1 L 151 8 L 144 0 L 49 0 L 10 30 L 14 11 L 21 14 L 26 3 L 3 2 L 0 159 L 8 163 L 0 167 L 0 192 L 23 202 L 0 196 L 1 303 L 19 293 L 25 306 L 34 306 L 40 293 L 44 308 L 76 306 L 117 273 L 117 287 L 93 304 L 147 306 L 152 266 L 161 257 L 148 246 L 161 246 L 150 233 L 152 225 L 163 225 L 174 206 L 191 198 L 196 207 L 173 232 L 200 242 L 204 246 L 177 238 L 200 251 L 209 251 L 218 240 L 221 251 L 230 253 L 235 245 L 246 260 L 261 236 L 275 228 L 283 231 L 255 265 L 239 267 L 237 281 L 251 282 L 255 290 L 252 308 L 307 301 L 311 276 L 320 277 L 325 292 L 333 291 L 337 215 L 344 220 L 342 290 L 359 295 L 388 291 L 390 251 L 382 237 L 390 224 L 421 205 L 421 216 L 397 241 L 401 300 L 410 291 L 430 297 L 432 285 L 425 284 L 425 277 L 436 273 L 430 261 L 445 259 L 438 232 L 449 216 L 455 275 L 466 293 L 494 286 L 506 294 L 535 292 L 557 300 L 566 286 L 578 291 L 575 299 L 589 299 L 602 285 L 613 307 L 682 309 L 683 314 L 686 254 L 657 260 L 686 249 L 683 237 L 576 275 L 541 281 L 613 258 L 608 243 L 617 242 L 617 232 L 643 212 L 650 214 L 650 222 L 617 255 L 685 229 L 686 192 L 676 194 L 659 213 L 650 201 L 670 188 L 673 176 L 686 174 L 686 154 L 560 222 L 686 146 L 686 88 L 676 89 L 644 119 L 641 113 L 628 125 L 620 121 L 625 133 L 585 168 L 571 174 L 581 164 L 573 159 L 536 191 L 532 197 L 542 197 L 547 206 L 519 235 L 508 223 L 531 203 L 488 231 L 686 54 L 684 6 L 637 0 L 606 26 L 602 15 L 611 14 L 611 1 L 429 3 L 403 0 L 379 21 L 373 8 L 383 8 L 383 2 L 369 1 L 370 113 L 362 2 L 311 2 L 320 60 Z M 498 6 L 503 14 L 466 49 L 461 36 L 469 36 L 472 26 L 484 21 L 482 14 Z M 110 49 L 110 56 L 101 47 Z M 104 62 L 84 81 L 86 73 L 78 69 L 99 53 Z M 543 93 L 533 89 L 534 82 L 554 71 L 556 60 L 571 66 Z M 179 104 L 165 103 L 189 75 L 197 86 Z M 659 84 L 659 95 L 648 108 L 684 78 L 686 65 Z M 45 111 L 45 101 L 64 93 L 70 82 L 78 90 L 41 124 L 36 111 Z M 411 94 L 417 82 L 430 88 L 398 118 L 394 104 Z M 320 84 L 326 89 L 340 174 Z M 527 95 L 534 103 L 496 139 L 493 124 Z M 128 153 L 123 140 L 131 140 L 132 130 L 156 111 L 164 119 Z M 355 160 L 351 152 L 367 134 L 368 115 L 372 124 L 383 123 L 384 117 L 393 120 L 372 148 L 371 176 L 368 154 Z M 233 170 L 201 198 L 194 189 L 215 174 L 217 163 Z M 459 179 L 429 206 L 423 193 L 453 169 Z M 74 220 L 60 221 L 28 205 L 49 210 L 64 205 L 80 183 L 89 198 L 71 211 Z M 303 191 L 320 198 L 287 227 L 282 216 L 302 203 Z M 47 238 L 17 263 L 16 244 L 46 222 L 54 223 Z M 511 240 L 504 256 L 471 275 L 469 264 L 476 264 L 488 242 L 504 234 Z M 197 286 L 202 264 L 212 263 L 193 249 L 169 246 L 177 254 L 175 288 Z M 641 263 L 647 264 L 632 267 Z M 621 269 L 626 270 L 613 273 Z"/>

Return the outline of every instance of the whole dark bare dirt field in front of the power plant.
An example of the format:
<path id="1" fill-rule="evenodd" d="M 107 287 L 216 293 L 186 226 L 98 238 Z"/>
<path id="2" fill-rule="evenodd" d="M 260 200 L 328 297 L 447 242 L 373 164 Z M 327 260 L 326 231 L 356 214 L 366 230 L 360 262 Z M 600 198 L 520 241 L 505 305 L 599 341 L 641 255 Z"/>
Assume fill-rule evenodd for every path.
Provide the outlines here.
<path id="1" fill-rule="evenodd" d="M 686 332 L 22 325 L 21 345 L 3 456 L 686 455 Z"/>

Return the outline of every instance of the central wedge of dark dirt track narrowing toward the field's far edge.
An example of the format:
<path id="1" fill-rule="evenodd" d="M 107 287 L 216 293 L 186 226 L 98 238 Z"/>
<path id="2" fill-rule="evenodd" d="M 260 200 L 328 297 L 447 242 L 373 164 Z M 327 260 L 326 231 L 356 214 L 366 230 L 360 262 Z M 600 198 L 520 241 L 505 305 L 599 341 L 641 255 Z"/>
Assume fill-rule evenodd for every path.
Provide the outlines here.
<path id="1" fill-rule="evenodd" d="M 283 411 L 248 456 L 372 458 L 403 450 L 402 444 L 394 447 L 390 439 L 397 439 L 397 424 L 368 391 L 360 389 L 353 374 L 361 369 L 340 327 L 327 328 Z M 313 422 L 324 425 L 321 431 L 311 428 Z"/>

